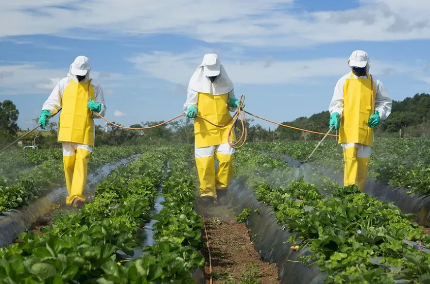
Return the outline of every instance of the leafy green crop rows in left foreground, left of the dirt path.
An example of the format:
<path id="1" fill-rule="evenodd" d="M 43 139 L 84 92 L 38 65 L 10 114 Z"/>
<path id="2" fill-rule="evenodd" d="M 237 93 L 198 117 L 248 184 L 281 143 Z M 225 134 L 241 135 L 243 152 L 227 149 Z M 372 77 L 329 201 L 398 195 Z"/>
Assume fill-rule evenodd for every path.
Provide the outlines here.
<path id="1" fill-rule="evenodd" d="M 190 271 L 204 265 L 198 253 L 204 239 L 203 221 L 193 210 L 189 154 L 148 151 L 99 183 L 83 209 L 57 217 L 42 235 L 21 234 L 19 243 L 0 249 L 0 283 L 192 283 Z M 166 201 L 151 217 L 161 186 Z M 151 218 L 157 220 L 155 245 L 142 257 L 124 257 L 121 251 L 132 256 L 140 245 L 139 228 Z"/>

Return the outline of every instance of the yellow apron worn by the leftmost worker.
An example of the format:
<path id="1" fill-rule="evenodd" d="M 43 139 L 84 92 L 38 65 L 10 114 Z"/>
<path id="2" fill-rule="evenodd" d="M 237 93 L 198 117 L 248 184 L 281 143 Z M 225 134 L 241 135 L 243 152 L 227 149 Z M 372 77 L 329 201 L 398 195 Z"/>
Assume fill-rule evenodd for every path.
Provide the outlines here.
<path id="1" fill-rule="evenodd" d="M 88 109 L 88 93 L 94 100 L 94 87 L 90 80 L 78 83 L 73 80 L 63 94 L 63 108 L 58 122 L 58 141 L 94 146 L 94 119 Z"/>

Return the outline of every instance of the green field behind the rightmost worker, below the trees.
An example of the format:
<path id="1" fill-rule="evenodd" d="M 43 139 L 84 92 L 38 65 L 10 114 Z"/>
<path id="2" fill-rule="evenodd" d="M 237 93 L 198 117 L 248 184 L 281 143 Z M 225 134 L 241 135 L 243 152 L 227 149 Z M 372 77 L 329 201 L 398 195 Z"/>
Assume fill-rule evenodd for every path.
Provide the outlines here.
<path id="1" fill-rule="evenodd" d="M 282 153 L 304 161 L 318 141 L 253 143 L 252 148 Z M 368 178 L 382 180 L 416 194 L 430 194 L 430 138 L 376 138 Z M 343 173 L 342 147 L 327 138 L 308 161 Z"/>

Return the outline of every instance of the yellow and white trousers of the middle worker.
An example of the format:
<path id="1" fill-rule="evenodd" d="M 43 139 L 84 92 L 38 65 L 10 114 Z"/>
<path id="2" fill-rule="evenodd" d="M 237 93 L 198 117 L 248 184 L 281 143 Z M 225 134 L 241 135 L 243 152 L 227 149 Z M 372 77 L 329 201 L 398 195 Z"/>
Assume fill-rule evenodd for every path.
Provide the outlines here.
<path id="1" fill-rule="evenodd" d="M 233 153 L 234 149 L 228 143 L 195 149 L 201 197 L 216 198 L 216 190 L 227 189 L 233 180 Z M 219 161 L 217 172 L 215 172 L 215 157 Z"/>

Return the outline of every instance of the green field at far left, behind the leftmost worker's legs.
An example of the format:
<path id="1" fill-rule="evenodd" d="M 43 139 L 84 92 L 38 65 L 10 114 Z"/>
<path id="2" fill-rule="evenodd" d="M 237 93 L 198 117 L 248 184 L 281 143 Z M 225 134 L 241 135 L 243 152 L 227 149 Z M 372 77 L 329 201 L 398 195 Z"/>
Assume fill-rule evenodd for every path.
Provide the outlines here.
<path id="1" fill-rule="evenodd" d="M 105 164 L 140 153 L 142 149 L 136 146 L 95 148 L 90 157 L 88 171 L 94 172 Z M 52 188 L 65 184 L 60 149 L 10 151 L 3 156 L 7 159 L 1 160 L 0 164 L 7 173 L 0 175 L 0 213 L 27 205 L 29 201 L 43 196 Z M 29 166 L 34 167 L 19 170 Z"/>

